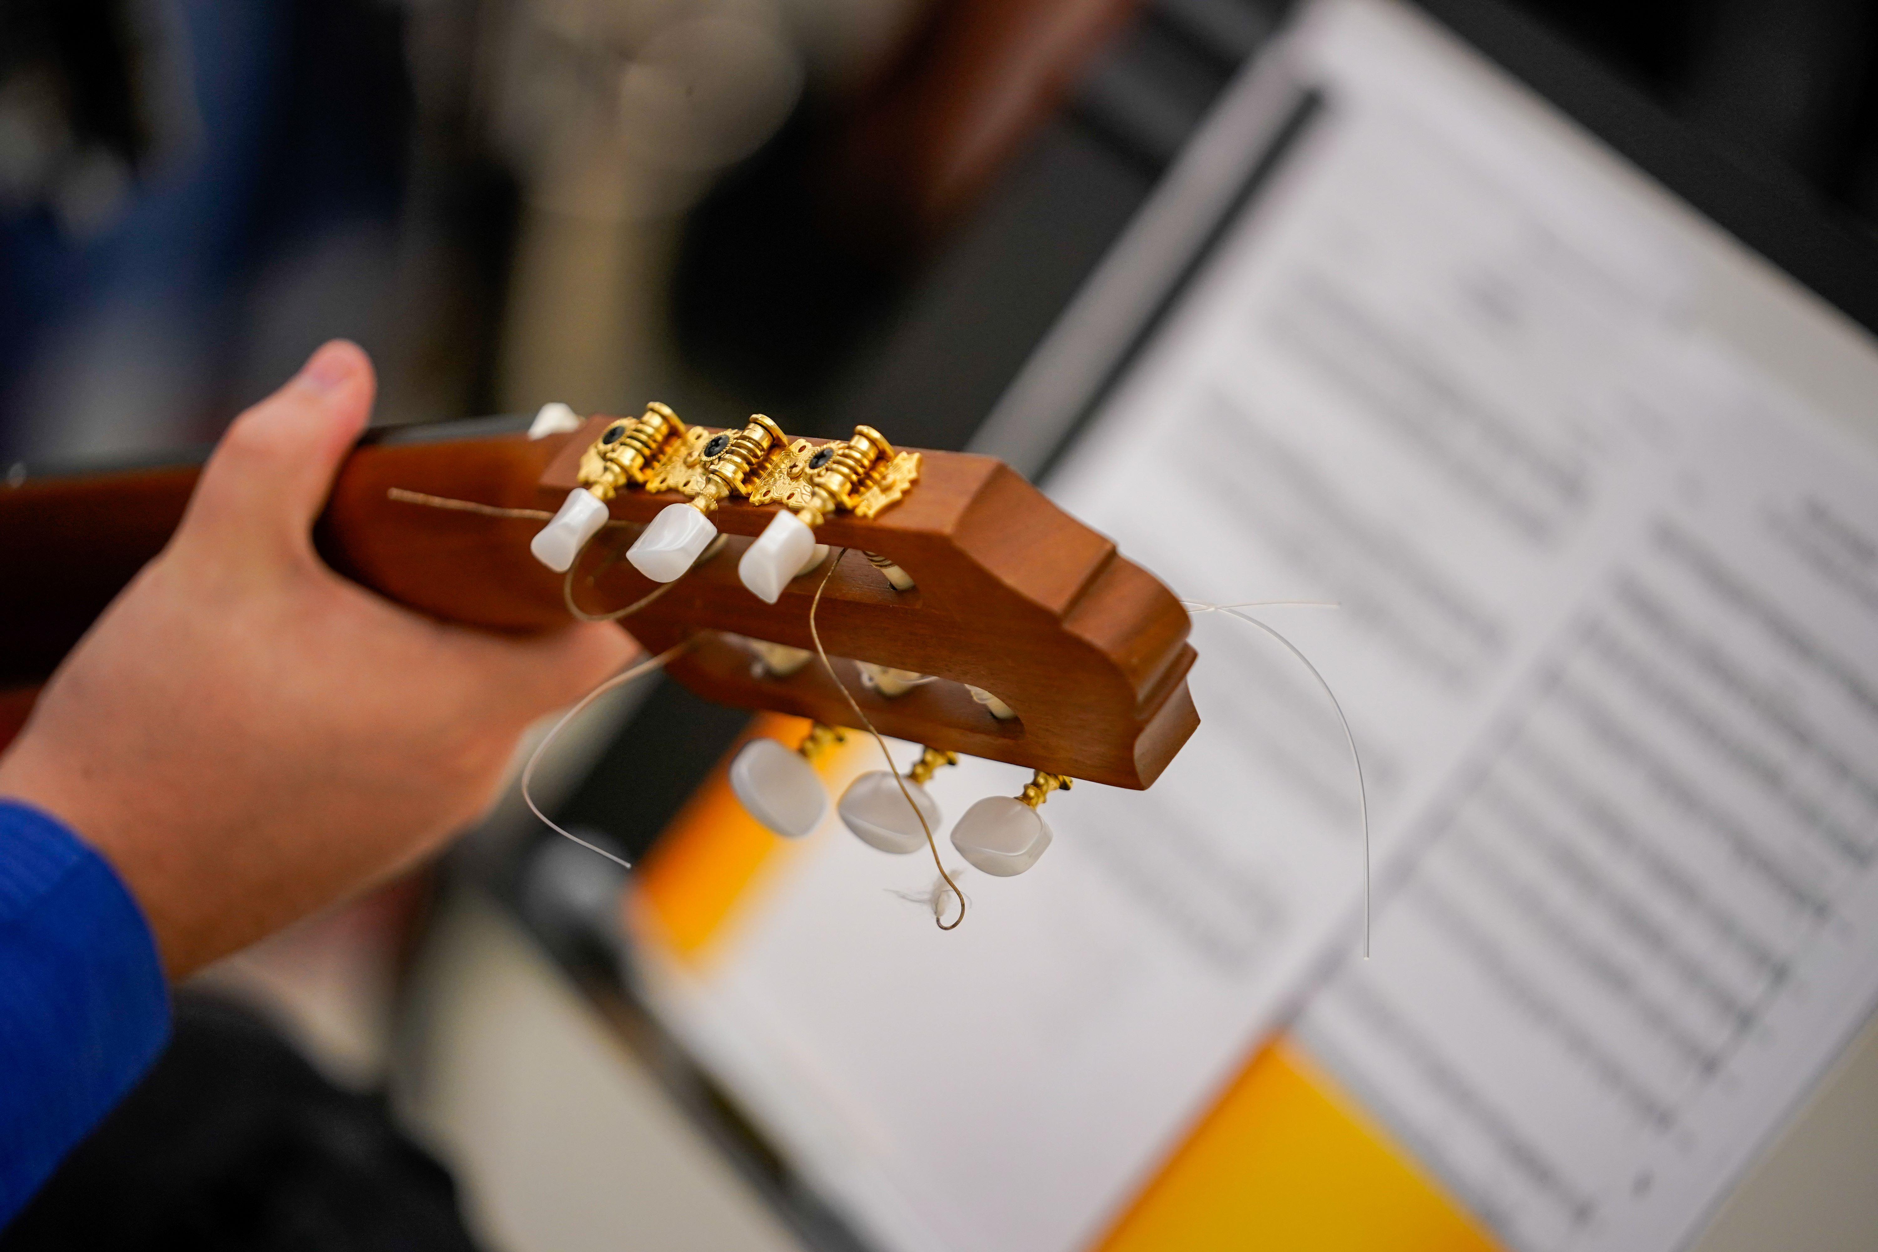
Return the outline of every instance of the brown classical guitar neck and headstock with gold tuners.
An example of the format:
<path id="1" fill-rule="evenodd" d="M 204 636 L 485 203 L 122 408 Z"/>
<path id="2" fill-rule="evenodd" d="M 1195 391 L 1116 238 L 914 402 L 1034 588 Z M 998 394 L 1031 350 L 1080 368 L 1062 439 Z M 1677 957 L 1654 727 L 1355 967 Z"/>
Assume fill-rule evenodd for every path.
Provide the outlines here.
<path id="1" fill-rule="evenodd" d="M 866 426 L 845 441 L 761 415 L 685 426 L 657 404 L 584 422 L 550 405 L 528 426 L 368 435 L 321 554 L 400 604 L 498 631 L 631 610 L 622 625 L 676 649 L 667 668 L 697 695 L 817 723 L 804 756 L 858 713 L 926 747 L 915 781 L 952 753 L 1035 770 L 1031 809 L 1070 779 L 1144 788 L 1198 726 L 1179 601 L 997 460 L 900 450 Z M 163 546 L 195 473 L 8 475 L 0 687 L 51 674 Z"/>

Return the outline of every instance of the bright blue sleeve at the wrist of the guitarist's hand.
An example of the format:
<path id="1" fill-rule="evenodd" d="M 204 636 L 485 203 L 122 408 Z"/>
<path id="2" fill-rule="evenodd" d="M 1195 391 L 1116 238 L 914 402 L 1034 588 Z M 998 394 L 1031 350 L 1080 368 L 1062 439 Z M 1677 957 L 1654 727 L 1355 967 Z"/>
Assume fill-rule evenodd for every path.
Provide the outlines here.
<path id="1" fill-rule="evenodd" d="M 169 989 L 111 865 L 0 800 L 0 1224 L 156 1061 Z"/>

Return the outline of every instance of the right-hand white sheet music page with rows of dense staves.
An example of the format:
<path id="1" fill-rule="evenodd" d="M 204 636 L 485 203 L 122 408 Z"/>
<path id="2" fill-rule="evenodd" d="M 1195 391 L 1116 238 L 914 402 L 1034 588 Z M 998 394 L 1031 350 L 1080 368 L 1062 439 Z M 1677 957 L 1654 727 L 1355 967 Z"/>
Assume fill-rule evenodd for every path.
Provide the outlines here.
<path id="1" fill-rule="evenodd" d="M 1878 458 L 1733 374 L 1301 1023 L 1516 1248 L 1686 1241 L 1878 1000 Z"/>

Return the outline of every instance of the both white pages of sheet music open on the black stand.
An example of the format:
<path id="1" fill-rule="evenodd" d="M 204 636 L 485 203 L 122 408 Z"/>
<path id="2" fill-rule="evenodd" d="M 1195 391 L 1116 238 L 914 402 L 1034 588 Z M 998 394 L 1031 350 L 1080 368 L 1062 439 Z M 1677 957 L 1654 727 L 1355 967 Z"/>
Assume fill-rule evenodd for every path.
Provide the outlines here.
<path id="1" fill-rule="evenodd" d="M 1307 1040 L 1510 1244 L 1668 1248 L 1878 993 L 1878 471 L 1692 328 L 1608 156 L 1392 13 L 1313 11 L 1324 116 L 1048 488 L 1183 597 L 1341 604 L 1260 616 L 1412 877 Z M 1337 721 L 1241 623 L 1194 642 L 1166 775 L 1052 798 L 960 931 L 830 824 L 667 987 L 881 1246 L 1087 1246 L 1354 952 Z"/>

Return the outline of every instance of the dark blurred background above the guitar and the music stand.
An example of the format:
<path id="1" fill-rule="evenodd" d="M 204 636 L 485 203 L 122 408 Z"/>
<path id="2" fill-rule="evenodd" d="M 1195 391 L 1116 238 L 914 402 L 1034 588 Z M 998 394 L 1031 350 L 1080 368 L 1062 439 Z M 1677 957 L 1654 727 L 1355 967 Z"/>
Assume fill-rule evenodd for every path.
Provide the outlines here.
<path id="1" fill-rule="evenodd" d="M 1521 8 L 1878 210 L 1870 6 Z M 383 422 L 892 404 L 958 447 L 1281 9 L 8 0 L 0 456 L 208 441 L 338 334 Z"/>

